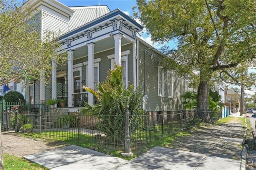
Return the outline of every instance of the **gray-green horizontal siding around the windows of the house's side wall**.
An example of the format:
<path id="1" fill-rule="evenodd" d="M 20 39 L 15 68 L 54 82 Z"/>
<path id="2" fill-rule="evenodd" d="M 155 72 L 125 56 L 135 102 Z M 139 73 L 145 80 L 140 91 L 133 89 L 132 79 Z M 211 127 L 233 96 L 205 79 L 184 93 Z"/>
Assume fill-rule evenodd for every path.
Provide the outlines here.
<path id="1" fill-rule="evenodd" d="M 146 50 L 146 52 L 145 52 Z M 146 57 L 146 71 L 144 70 L 144 57 Z M 180 78 L 173 74 L 173 97 L 167 97 L 167 71 L 164 71 L 164 97 L 158 96 L 158 63 L 162 56 L 159 52 L 148 49 L 139 43 L 139 85 L 144 93 L 144 75 L 146 73 L 146 95 L 148 111 L 179 110 L 180 109 Z"/>

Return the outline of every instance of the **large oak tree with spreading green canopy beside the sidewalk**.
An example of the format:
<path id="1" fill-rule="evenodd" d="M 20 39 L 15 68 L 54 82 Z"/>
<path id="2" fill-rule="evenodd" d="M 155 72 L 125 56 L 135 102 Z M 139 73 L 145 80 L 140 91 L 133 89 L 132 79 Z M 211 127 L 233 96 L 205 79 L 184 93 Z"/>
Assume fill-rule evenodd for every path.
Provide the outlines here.
<path id="1" fill-rule="evenodd" d="M 162 65 L 198 82 L 199 110 L 208 109 L 213 82 L 250 87 L 255 81 L 246 69 L 255 65 L 256 1 L 137 0 L 137 5 L 134 15 L 154 41 L 178 43 Z M 209 114 L 200 118 L 210 121 Z"/>

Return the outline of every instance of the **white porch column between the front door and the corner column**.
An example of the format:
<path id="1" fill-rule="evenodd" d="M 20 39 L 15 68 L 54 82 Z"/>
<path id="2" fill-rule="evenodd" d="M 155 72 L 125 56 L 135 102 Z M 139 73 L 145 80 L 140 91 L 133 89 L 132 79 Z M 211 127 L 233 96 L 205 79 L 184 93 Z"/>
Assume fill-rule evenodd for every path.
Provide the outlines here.
<path id="1" fill-rule="evenodd" d="M 87 44 L 88 47 L 88 87 L 93 89 L 93 71 L 94 71 L 94 43 Z M 93 95 L 88 93 L 88 104 L 93 105 Z"/>

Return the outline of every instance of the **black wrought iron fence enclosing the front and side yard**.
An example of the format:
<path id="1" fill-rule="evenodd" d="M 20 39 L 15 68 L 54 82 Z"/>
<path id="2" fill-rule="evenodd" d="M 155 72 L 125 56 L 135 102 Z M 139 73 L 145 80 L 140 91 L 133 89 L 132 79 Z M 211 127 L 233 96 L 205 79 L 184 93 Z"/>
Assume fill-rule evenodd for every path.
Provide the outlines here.
<path id="1" fill-rule="evenodd" d="M 40 138 L 76 143 L 97 143 L 124 147 L 124 115 L 101 117 L 80 115 L 67 109 L 50 109 L 38 105 L 8 105 L 4 110 L 4 128 Z M 204 112 L 204 113 L 208 113 Z M 130 146 L 162 140 L 196 125 L 196 111 L 148 111 L 144 115 L 129 117 Z M 113 120 L 108 125 L 108 121 Z M 136 120 L 136 121 L 134 121 Z M 114 125 L 113 125 L 114 124 Z"/>

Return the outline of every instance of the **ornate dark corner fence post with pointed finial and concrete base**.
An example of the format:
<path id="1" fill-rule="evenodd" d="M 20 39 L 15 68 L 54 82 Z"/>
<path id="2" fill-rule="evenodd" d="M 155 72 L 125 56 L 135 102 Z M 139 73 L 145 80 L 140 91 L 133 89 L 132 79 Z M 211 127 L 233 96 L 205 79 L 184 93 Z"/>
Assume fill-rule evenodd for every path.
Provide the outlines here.
<path id="1" fill-rule="evenodd" d="M 124 152 L 122 152 L 122 156 L 130 157 L 133 154 L 130 152 L 130 132 L 129 132 L 129 105 L 126 106 L 125 111 L 125 140 L 124 140 Z"/>

